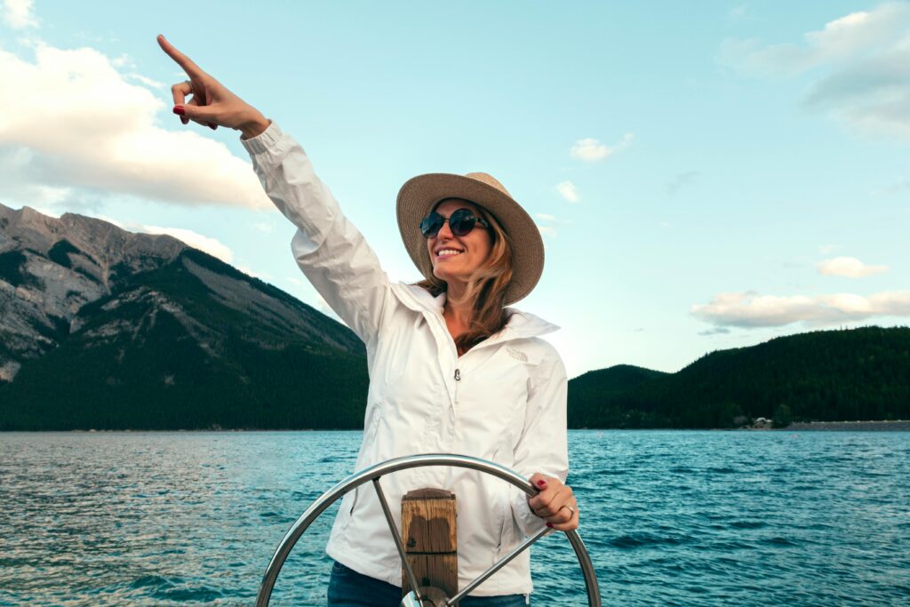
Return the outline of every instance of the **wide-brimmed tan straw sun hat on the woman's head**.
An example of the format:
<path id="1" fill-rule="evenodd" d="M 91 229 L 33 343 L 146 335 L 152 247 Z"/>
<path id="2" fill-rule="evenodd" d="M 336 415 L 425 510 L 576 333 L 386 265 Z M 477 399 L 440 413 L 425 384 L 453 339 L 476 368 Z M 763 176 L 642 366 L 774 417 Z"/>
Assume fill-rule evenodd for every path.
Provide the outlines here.
<path id="1" fill-rule="evenodd" d="M 506 287 L 505 304 L 524 298 L 541 279 L 543 239 L 527 211 L 495 177 L 487 173 L 427 173 L 411 177 L 399 190 L 397 213 L 405 248 L 424 277 L 433 275 L 427 239 L 420 234 L 420 220 L 446 198 L 469 200 L 500 222 L 512 249 L 512 278 Z"/>

